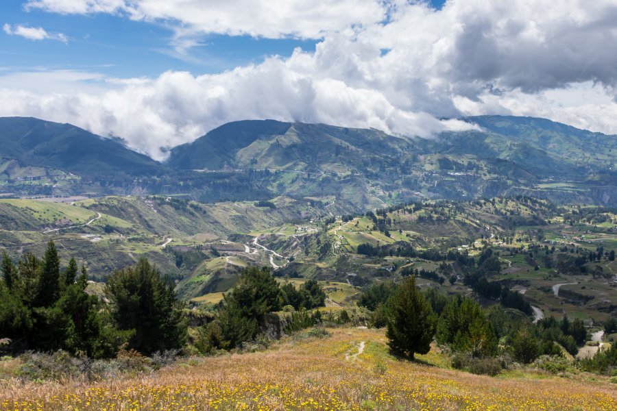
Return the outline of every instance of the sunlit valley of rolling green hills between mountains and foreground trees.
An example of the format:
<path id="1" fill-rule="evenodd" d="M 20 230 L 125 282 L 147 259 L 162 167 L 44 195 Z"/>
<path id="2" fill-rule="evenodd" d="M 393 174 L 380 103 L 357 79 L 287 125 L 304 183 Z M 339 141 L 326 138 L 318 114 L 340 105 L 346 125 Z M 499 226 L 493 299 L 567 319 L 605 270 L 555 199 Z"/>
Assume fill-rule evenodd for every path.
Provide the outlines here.
<path id="1" fill-rule="evenodd" d="M 331 298 L 332 306 L 353 306 L 362 286 L 398 282 L 414 272 L 421 288 L 476 295 L 490 306 L 492 298 L 465 283 L 465 266 L 457 259 L 491 249 L 500 267 L 487 279 L 529 301 L 531 319 L 568 315 L 593 329 L 617 308 L 617 264 L 614 253 L 609 256 L 617 248 L 612 208 L 498 197 L 354 214 L 324 203 L 289 197 L 267 206 L 157 196 L 0 200 L 0 221 L 10 228 L 0 230 L 0 247 L 18 258 L 40 253 L 54 240 L 60 255 L 77 256 L 95 281 L 145 256 L 173 279 L 181 298 L 195 303 L 219 301 L 250 265 L 269 266 L 279 278 L 356 290 Z"/>

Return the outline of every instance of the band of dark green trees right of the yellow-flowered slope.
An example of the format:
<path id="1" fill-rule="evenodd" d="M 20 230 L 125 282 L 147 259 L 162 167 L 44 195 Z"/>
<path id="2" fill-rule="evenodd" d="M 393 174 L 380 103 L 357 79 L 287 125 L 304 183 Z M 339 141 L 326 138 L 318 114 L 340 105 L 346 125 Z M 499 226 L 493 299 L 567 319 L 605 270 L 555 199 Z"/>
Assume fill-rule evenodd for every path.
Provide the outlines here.
<path id="1" fill-rule="evenodd" d="M 398 285 L 372 284 L 358 305 L 372 311 L 372 326 L 386 328 L 393 351 L 413 359 L 416 353 L 428 353 L 435 340 L 451 353 L 452 366 L 474 373 L 498 373 L 505 357 L 528 364 L 540 356 L 562 357 L 564 350 L 576 355 L 587 334 L 580 319 L 549 317 L 533 324 L 499 306 L 485 310 L 468 297 L 446 297 L 434 289 L 422 292 L 413 275 Z M 606 327 L 617 329 L 614 323 Z M 588 371 L 617 367 L 615 348 L 596 357 L 581 366 Z"/>

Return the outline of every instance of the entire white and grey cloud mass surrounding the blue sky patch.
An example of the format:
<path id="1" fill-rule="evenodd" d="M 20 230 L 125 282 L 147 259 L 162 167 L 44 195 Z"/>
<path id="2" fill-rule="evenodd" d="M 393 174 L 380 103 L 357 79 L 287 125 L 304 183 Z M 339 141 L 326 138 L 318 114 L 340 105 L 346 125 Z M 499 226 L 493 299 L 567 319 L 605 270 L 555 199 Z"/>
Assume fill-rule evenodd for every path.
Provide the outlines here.
<path id="1" fill-rule="evenodd" d="M 0 75 L 0 115 L 69 121 L 122 136 L 158 159 L 165 158 L 167 147 L 240 119 L 431 136 L 469 127 L 441 118 L 516 114 L 617 133 L 617 3 L 612 0 L 449 0 L 440 10 L 404 0 L 180 3 L 31 0 L 27 5 L 173 21 L 192 35 L 321 40 L 314 52 L 296 49 L 288 58 L 274 56 L 213 75 L 170 71 L 156 78 L 86 80 L 96 88 L 88 92 L 58 87 L 41 95 L 36 81 L 16 88 Z M 199 7 L 204 4 L 208 7 Z"/>

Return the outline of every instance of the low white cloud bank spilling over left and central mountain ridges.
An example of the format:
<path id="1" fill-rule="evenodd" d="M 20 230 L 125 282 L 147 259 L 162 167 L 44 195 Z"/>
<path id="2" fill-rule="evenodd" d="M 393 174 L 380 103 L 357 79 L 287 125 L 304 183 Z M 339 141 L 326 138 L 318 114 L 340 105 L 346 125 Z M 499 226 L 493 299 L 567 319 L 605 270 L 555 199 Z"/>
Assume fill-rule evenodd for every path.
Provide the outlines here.
<path id="1" fill-rule="evenodd" d="M 401 110 L 376 90 L 299 75 L 289 69 L 288 63 L 271 58 L 258 66 L 217 75 L 195 77 L 170 71 L 156 79 L 112 79 L 114 88 L 98 93 L 90 90 L 40 95 L 34 89 L 0 88 L 0 115 L 66 121 L 97 134 L 121 136 L 134 149 L 158 160 L 166 157 L 169 147 L 194 140 L 224 123 L 244 119 L 374 127 L 409 136 L 431 136 L 470 127 L 463 122 L 439 121 L 430 114 Z M 49 73 L 49 77 L 53 75 Z M 40 81 L 47 78 L 42 75 Z"/>

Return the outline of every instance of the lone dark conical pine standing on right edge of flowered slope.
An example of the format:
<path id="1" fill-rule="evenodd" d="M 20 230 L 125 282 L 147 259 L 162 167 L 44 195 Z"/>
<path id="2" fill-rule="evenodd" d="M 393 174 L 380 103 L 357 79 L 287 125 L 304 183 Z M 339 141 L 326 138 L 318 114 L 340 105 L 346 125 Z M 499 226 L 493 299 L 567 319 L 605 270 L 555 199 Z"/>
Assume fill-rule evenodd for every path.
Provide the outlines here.
<path id="1" fill-rule="evenodd" d="M 404 279 L 389 300 L 386 337 L 394 351 L 414 358 L 426 354 L 435 335 L 435 314 L 415 288 L 413 275 Z"/>

